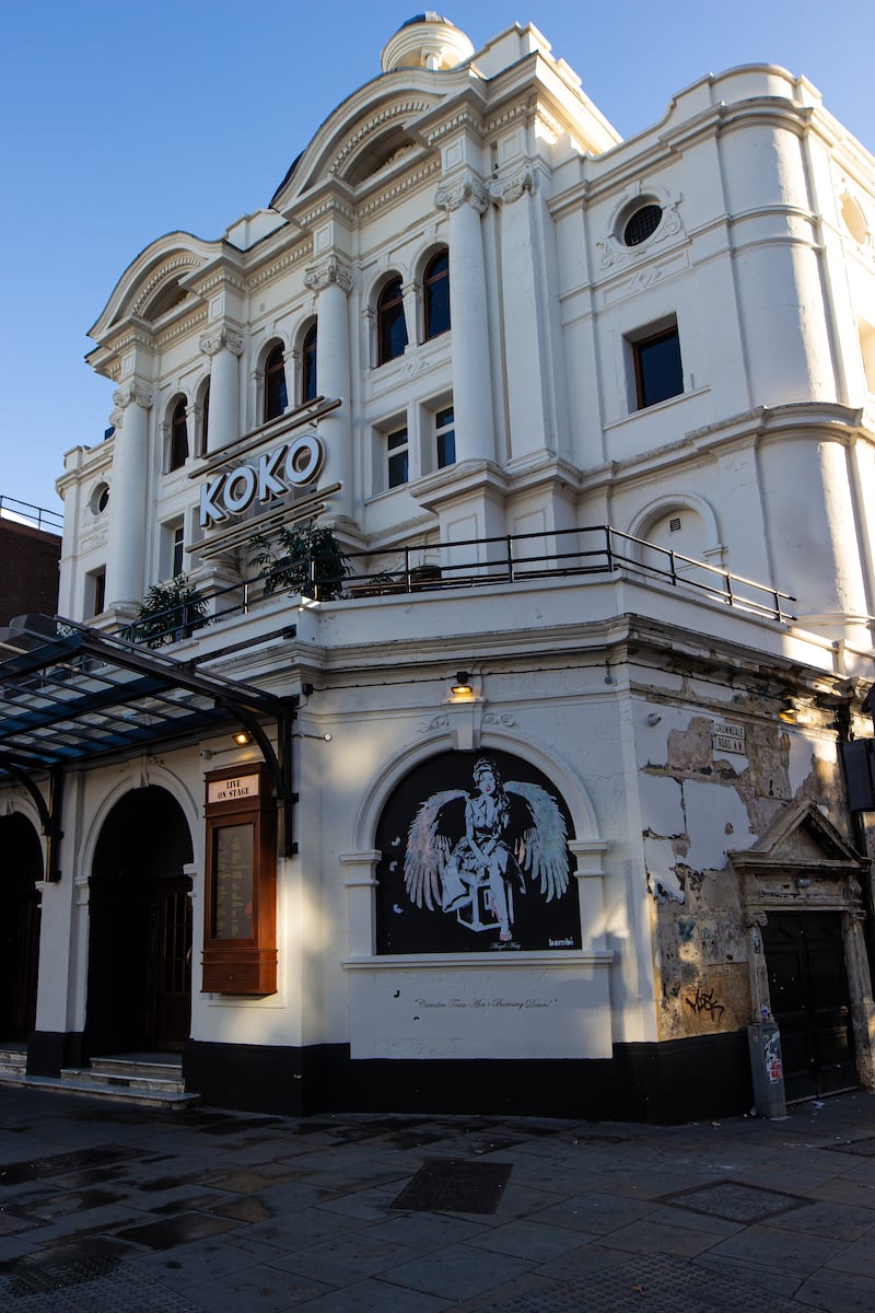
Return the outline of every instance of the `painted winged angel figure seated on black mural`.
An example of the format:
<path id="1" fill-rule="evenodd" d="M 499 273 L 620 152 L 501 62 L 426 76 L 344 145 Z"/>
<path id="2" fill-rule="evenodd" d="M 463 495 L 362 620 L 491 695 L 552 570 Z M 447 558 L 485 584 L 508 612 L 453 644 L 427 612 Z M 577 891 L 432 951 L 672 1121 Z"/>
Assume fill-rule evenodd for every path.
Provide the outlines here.
<path id="1" fill-rule="evenodd" d="M 447 789 L 421 804 L 408 834 L 404 885 L 417 907 L 454 911 L 470 930 L 497 922 L 506 944 L 514 892 L 537 884 L 550 902 L 568 888 L 565 822 L 540 785 L 504 784 L 491 758 L 479 758 L 472 773 L 475 793 Z M 492 924 L 480 918 L 481 898 Z"/>

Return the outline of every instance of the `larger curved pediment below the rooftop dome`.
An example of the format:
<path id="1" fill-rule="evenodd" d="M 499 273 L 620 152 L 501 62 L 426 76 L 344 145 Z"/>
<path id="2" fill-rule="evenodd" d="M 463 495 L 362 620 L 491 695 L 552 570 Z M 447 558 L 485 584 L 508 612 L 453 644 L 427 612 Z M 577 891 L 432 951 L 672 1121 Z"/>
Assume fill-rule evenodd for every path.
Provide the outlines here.
<path id="1" fill-rule="evenodd" d="M 327 181 L 356 188 L 421 147 L 416 123 L 468 85 L 467 68 L 451 72 L 397 68 L 367 83 L 321 125 L 294 161 L 270 205 L 286 211 Z"/>

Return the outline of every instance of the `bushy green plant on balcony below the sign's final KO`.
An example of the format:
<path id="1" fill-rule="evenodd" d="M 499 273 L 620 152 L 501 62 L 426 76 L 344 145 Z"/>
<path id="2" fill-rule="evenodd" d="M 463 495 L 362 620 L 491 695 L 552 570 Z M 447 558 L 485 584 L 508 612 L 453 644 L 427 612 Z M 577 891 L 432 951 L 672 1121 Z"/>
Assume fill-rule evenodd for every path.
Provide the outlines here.
<path id="1" fill-rule="evenodd" d="M 352 570 L 325 525 L 296 524 L 274 534 L 260 533 L 251 546 L 256 550 L 249 565 L 261 571 L 265 596 L 281 591 L 312 595 L 317 601 L 344 596 L 344 579 Z"/>

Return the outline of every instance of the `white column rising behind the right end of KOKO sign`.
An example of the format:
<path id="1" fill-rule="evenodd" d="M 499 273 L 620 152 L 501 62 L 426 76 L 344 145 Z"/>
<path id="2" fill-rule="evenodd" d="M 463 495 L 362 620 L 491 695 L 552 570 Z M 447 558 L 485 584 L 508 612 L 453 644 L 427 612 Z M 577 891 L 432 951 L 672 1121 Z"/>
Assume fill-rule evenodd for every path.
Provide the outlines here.
<path id="1" fill-rule="evenodd" d="M 325 469 L 320 483 L 340 483 L 329 498 L 335 517 L 352 517 L 353 452 L 350 421 L 349 315 L 346 297 L 353 288 L 352 272 L 336 256 L 308 269 L 304 285 L 316 293 L 316 391 L 342 402 L 319 420 L 319 436 L 325 445 Z"/>

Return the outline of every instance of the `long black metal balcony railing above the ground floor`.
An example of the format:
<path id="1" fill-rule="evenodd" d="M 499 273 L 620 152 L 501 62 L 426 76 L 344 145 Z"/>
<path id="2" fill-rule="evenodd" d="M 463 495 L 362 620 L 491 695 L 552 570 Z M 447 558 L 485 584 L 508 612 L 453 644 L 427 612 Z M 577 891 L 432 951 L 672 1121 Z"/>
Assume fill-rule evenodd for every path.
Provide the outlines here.
<path id="1" fill-rule="evenodd" d="M 148 633 L 142 622 L 134 622 L 119 635 L 161 646 L 228 616 L 249 613 L 277 593 L 319 603 L 451 588 L 495 591 L 531 582 L 606 576 L 621 570 L 765 620 L 788 624 L 796 618 L 788 605 L 795 597 L 788 592 L 610 525 L 593 525 L 352 551 L 342 557 L 341 570 L 336 557 L 327 562 L 317 551 L 285 558 L 252 579 L 199 593 L 206 618 L 188 601 L 152 613 Z"/>

